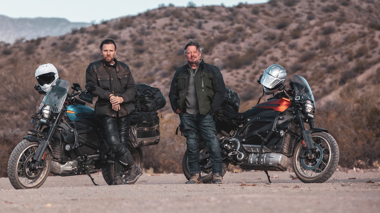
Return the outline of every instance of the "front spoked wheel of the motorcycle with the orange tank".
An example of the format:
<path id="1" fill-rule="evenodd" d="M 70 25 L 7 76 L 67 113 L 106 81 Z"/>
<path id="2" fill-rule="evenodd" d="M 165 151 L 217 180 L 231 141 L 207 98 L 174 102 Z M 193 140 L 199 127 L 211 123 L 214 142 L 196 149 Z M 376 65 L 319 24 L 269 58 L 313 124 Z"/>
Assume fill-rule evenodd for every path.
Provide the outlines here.
<path id="1" fill-rule="evenodd" d="M 306 149 L 299 142 L 293 156 L 293 168 L 299 180 L 304 183 L 323 183 L 328 180 L 339 161 L 339 148 L 335 139 L 326 132 L 311 134 L 315 149 L 313 158 L 303 157 Z"/>

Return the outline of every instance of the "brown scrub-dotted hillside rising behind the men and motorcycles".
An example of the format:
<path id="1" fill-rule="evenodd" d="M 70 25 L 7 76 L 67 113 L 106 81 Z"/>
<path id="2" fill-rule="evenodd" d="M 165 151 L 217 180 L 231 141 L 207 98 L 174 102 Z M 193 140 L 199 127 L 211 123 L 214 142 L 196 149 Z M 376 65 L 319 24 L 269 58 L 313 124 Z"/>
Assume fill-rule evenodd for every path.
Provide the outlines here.
<path id="1" fill-rule="evenodd" d="M 308 80 L 317 100 L 316 124 L 337 139 L 340 163 L 375 165 L 380 159 L 379 17 L 376 0 L 161 7 L 58 37 L 0 43 L 0 160 L 7 160 L 26 130 L 34 128 L 28 121 L 42 99 L 32 89 L 40 64 L 52 63 L 61 78 L 84 85 L 87 65 L 100 59 L 99 42 L 112 38 L 118 45 L 116 58 L 131 67 L 136 83 L 160 88 L 169 100 L 174 70 L 186 62 L 184 45 L 196 38 L 204 46 L 201 58 L 219 66 L 226 86 L 240 95 L 241 111 L 261 96 L 256 81 L 263 70 L 280 64 L 287 69 L 287 81 L 294 74 Z M 162 114 L 162 142 L 144 148 L 144 155 L 154 159 L 146 158 L 145 165 L 180 172 L 185 145 L 183 137 L 174 135 L 179 119 L 169 104 Z"/>

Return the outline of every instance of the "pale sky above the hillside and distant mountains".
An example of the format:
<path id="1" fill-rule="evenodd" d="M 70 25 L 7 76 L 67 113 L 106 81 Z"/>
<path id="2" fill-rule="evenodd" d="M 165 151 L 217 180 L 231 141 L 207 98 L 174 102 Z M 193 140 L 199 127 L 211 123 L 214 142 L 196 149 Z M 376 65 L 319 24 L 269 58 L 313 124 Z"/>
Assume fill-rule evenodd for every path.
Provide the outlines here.
<path id="1" fill-rule="evenodd" d="M 11 18 L 58 17 L 70 22 L 94 22 L 137 15 L 158 5 L 169 3 L 187 6 L 190 1 L 179 0 L 0 0 L 0 15 Z M 265 3 L 268 0 L 192 0 L 196 6 L 236 6 L 239 3 Z M 1 24 L 1 23 L 0 23 Z"/>

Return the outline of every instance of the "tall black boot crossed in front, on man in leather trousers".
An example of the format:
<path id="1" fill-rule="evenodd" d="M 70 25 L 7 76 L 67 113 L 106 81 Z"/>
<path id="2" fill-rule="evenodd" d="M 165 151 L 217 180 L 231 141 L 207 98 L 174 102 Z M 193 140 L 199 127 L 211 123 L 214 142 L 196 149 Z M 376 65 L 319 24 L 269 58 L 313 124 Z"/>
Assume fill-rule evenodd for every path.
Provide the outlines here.
<path id="1" fill-rule="evenodd" d="M 142 175 L 141 168 L 136 164 L 135 160 L 133 159 L 131 152 L 128 150 L 128 152 L 124 153 L 121 157 L 119 157 L 119 161 L 121 164 L 123 164 L 123 167 L 127 171 L 125 174 L 125 181 L 124 183 L 133 184 L 139 179 L 139 177 Z"/>

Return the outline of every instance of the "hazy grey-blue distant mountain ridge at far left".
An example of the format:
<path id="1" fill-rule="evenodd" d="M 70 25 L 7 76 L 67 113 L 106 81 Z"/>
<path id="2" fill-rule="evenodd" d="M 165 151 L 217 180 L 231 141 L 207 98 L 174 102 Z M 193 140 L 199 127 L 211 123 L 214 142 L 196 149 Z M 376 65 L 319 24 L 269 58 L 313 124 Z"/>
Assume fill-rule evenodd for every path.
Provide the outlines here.
<path id="1" fill-rule="evenodd" d="M 90 23 L 69 22 L 60 18 L 10 18 L 0 15 L 0 41 L 13 44 L 23 39 L 30 40 L 44 36 L 60 36 L 73 29 L 88 27 Z"/>

